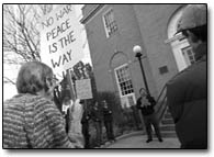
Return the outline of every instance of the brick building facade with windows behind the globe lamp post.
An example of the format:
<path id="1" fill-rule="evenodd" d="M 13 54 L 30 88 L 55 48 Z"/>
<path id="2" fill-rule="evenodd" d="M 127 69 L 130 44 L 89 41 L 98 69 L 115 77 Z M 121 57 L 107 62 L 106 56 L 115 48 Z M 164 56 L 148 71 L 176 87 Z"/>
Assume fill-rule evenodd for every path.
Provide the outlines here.
<path id="1" fill-rule="evenodd" d="M 133 47 L 139 45 L 148 88 L 155 98 L 166 82 L 194 61 L 176 34 L 184 4 L 86 4 L 82 8 L 98 91 L 112 91 L 128 108 L 144 81 Z"/>

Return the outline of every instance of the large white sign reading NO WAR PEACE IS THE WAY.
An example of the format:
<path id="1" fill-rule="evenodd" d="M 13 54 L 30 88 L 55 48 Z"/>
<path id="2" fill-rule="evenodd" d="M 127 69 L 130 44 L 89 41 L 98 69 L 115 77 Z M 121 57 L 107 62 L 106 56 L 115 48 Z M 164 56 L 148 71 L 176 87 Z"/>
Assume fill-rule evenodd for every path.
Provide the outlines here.
<path id="1" fill-rule="evenodd" d="M 80 23 L 74 4 L 63 4 L 41 22 L 42 61 L 56 75 L 71 68 L 83 58 Z"/>

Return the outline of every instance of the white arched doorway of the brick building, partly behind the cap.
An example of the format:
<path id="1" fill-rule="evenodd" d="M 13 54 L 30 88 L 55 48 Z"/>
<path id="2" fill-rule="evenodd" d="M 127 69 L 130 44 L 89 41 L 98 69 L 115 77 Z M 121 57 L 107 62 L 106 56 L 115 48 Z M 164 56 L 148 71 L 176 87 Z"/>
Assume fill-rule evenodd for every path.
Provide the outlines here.
<path id="1" fill-rule="evenodd" d="M 171 16 L 168 24 L 168 40 L 166 43 L 170 44 L 172 48 L 173 56 L 176 58 L 178 70 L 181 71 L 188 66 L 192 65 L 194 59 L 194 54 L 187 38 L 182 36 L 181 33 L 177 33 L 178 21 L 181 16 L 184 7 L 177 10 L 177 12 Z"/>

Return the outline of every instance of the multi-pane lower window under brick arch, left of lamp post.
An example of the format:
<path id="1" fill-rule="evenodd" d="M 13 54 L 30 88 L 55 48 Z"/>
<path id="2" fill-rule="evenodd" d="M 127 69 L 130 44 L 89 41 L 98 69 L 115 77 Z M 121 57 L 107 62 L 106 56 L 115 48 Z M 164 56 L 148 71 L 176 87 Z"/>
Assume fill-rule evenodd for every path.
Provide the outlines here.
<path id="1" fill-rule="evenodd" d="M 134 92 L 133 83 L 129 76 L 129 69 L 127 65 L 123 65 L 115 69 L 116 80 L 121 96 L 126 96 Z"/>

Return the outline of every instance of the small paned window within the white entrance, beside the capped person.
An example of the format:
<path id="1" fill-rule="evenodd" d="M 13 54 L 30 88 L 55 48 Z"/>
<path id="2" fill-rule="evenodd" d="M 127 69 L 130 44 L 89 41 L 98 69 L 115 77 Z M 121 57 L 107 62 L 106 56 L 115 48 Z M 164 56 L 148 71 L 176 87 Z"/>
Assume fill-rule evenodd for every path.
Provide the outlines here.
<path id="1" fill-rule="evenodd" d="M 182 53 L 188 66 L 195 63 L 194 53 L 192 52 L 192 48 L 190 46 L 182 48 Z"/>

